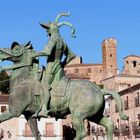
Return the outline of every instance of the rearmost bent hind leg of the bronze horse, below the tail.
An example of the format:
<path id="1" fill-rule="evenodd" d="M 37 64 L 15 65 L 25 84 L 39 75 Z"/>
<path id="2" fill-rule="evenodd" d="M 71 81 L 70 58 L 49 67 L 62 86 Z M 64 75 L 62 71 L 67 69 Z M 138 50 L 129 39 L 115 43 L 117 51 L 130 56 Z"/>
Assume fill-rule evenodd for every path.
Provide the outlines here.
<path id="1" fill-rule="evenodd" d="M 113 140 L 113 129 L 114 129 L 113 121 L 108 119 L 107 117 L 103 117 L 99 122 L 99 124 L 107 129 L 107 134 L 106 134 L 107 140 Z"/>

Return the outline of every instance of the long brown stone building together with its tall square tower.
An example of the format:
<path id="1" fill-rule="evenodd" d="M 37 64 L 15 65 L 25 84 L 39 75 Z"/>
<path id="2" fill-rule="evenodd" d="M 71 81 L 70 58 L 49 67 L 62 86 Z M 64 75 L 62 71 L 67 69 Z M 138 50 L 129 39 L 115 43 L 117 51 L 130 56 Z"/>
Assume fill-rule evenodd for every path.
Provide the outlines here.
<path id="1" fill-rule="evenodd" d="M 65 73 L 68 76 L 74 74 L 75 78 L 83 77 L 102 85 L 103 79 L 117 74 L 116 49 L 117 42 L 115 39 L 105 39 L 102 42 L 102 64 L 83 64 L 81 58 L 76 57 L 66 66 Z"/>

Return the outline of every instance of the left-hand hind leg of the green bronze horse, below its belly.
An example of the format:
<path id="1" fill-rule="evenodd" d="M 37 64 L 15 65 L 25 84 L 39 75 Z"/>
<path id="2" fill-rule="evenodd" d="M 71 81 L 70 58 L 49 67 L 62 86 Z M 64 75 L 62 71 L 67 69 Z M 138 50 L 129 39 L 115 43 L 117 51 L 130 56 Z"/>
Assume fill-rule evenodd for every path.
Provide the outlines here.
<path id="1" fill-rule="evenodd" d="M 74 140 L 82 140 L 88 135 L 85 130 L 84 119 L 82 119 L 81 116 L 72 116 L 72 123 L 76 129 L 76 137 Z"/>

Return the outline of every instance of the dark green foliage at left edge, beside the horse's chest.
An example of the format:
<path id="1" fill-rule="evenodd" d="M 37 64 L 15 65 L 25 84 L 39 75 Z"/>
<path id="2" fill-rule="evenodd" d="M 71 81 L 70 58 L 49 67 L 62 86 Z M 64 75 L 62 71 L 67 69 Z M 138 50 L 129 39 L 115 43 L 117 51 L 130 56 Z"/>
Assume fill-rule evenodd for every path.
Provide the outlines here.
<path id="1" fill-rule="evenodd" d="M 6 71 L 0 72 L 0 91 L 3 94 L 9 94 L 10 88 L 10 76 L 6 73 Z"/>

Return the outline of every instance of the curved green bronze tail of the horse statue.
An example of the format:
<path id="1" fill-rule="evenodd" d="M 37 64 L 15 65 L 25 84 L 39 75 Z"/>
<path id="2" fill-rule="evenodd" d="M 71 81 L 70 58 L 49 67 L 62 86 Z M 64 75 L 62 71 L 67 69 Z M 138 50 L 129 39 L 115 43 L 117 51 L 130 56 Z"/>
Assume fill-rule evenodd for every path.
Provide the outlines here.
<path id="1" fill-rule="evenodd" d="M 111 95 L 113 99 L 116 101 L 118 110 L 119 110 L 119 116 L 122 120 L 127 120 L 128 116 L 123 113 L 123 103 L 121 96 L 117 92 L 102 90 L 103 95 Z"/>

